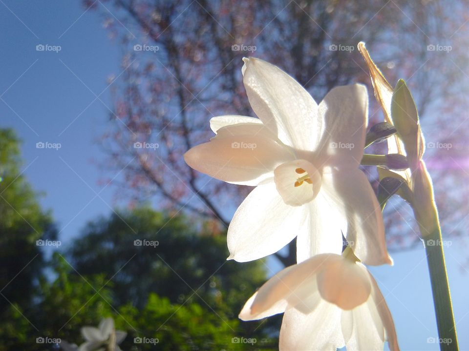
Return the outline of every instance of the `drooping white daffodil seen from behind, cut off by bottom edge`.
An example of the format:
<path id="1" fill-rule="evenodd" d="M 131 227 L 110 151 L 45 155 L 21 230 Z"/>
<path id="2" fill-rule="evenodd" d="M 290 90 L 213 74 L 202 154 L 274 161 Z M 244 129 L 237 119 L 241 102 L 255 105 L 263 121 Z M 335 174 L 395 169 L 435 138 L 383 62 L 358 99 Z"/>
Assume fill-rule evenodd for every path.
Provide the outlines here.
<path id="1" fill-rule="evenodd" d="M 347 252 L 348 251 L 348 252 Z M 348 257 L 319 254 L 269 279 L 239 318 L 283 315 L 280 350 L 399 350 L 391 313 L 371 273 Z"/>

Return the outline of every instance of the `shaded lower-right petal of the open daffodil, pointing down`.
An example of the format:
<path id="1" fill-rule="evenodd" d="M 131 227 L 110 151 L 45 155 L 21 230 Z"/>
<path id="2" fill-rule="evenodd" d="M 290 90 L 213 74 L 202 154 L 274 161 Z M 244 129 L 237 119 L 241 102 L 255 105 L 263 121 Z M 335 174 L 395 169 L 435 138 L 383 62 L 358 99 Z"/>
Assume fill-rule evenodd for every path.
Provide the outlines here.
<path id="1" fill-rule="evenodd" d="M 392 265 L 386 249 L 381 208 L 364 173 L 355 169 L 323 174 L 323 191 L 347 220 L 342 232 L 354 254 L 367 265 Z"/>

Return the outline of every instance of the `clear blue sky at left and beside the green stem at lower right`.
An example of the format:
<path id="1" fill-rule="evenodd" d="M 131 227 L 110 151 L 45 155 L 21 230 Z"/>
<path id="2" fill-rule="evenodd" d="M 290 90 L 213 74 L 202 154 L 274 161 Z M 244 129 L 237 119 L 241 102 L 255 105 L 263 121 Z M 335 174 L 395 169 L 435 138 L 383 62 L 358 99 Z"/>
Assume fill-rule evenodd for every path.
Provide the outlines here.
<path id="1" fill-rule="evenodd" d="M 114 200 L 116 188 L 100 182 L 119 175 L 96 165 L 104 159 L 96 140 L 107 129 L 111 107 L 107 78 L 113 75 L 119 83 L 121 48 L 108 38 L 98 13 L 85 13 L 81 1 L 1 0 L 0 9 L 0 127 L 13 128 L 23 140 L 24 174 L 45 193 L 41 203 L 52 210 L 66 244 L 86 221 L 123 205 Z M 61 50 L 37 51 L 41 44 Z M 38 142 L 61 148 L 38 149 Z M 445 249 L 460 348 L 468 350 L 467 253 L 457 241 Z M 427 342 L 437 331 L 423 245 L 393 258 L 394 267 L 371 272 L 393 314 L 401 348 L 438 350 Z"/>

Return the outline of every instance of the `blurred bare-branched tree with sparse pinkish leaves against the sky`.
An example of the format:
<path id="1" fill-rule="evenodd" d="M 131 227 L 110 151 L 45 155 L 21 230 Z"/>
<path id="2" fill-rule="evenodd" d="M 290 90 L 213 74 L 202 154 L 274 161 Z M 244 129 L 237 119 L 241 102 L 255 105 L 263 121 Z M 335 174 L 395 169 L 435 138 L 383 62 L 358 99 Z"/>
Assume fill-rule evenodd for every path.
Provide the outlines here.
<path id="1" fill-rule="evenodd" d="M 226 228 L 230 215 L 251 188 L 201 175 L 187 167 L 182 156 L 213 136 L 211 117 L 253 115 L 242 85 L 243 56 L 277 64 L 319 101 L 337 85 L 370 85 L 356 49 L 364 40 L 391 83 L 406 78 L 415 88 L 412 91 L 424 121 L 449 110 L 462 117 L 467 106 L 462 87 L 455 83 L 467 45 L 443 35 L 456 33 L 467 20 L 458 17 L 463 16 L 461 1 L 103 2 L 111 6 L 112 15 L 93 1 L 85 0 L 84 4 L 101 11 L 106 27 L 124 52 L 119 79 L 124 82 L 113 85 L 114 110 L 103 141 L 110 156 L 106 169 L 125 169 L 126 182 L 119 185 L 135 200 L 157 199 L 159 206 L 211 218 L 220 228 Z M 448 51 L 438 51 L 435 45 L 452 45 L 456 55 L 449 60 Z M 454 106 L 458 106 L 456 111 Z M 370 125 L 381 120 L 380 114 L 378 106 L 372 104 Z M 458 123 L 426 130 L 427 141 L 442 141 L 442 130 L 457 129 Z M 456 140 L 460 134 L 459 130 L 448 132 L 446 137 Z M 135 147 L 135 143 L 144 142 L 158 148 Z M 384 152 L 383 146 L 373 148 Z M 438 157 L 445 151 L 432 150 L 427 155 Z M 446 157 L 461 156 L 456 148 L 449 152 Z M 451 177 L 452 182 L 462 181 L 456 165 L 451 173 L 433 171 L 447 180 Z M 376 187 L 377 175 L 369 173 L 369 177 Z M 460 191 L 466 194 L 467 187 L 453 194 L 443 184 L 437 184 L 436 197 L 445 205 L 441 215 L 449 226 L 463 217 L 455 210 L 466 197 L 460 196 Z M 402 201 L 393 202 L 387 212 L 390 250 L 420 242 L 411 211 Z M 276 254 L 284 265 L 295 262 L 294 244 L 286 255 Z"/>

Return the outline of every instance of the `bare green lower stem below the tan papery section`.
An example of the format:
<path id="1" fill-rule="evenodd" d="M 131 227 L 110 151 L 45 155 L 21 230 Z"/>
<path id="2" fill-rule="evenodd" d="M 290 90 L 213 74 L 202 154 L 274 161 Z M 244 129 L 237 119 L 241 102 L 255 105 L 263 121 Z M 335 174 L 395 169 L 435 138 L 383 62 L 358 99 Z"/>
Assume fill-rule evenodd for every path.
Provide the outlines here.
<path id="1" fill-rule="evenodd" d="M 440 228 L 438 227 L 433 233 L 426 236 L 424 241 L 440 350 L 459 350 Z"/>

